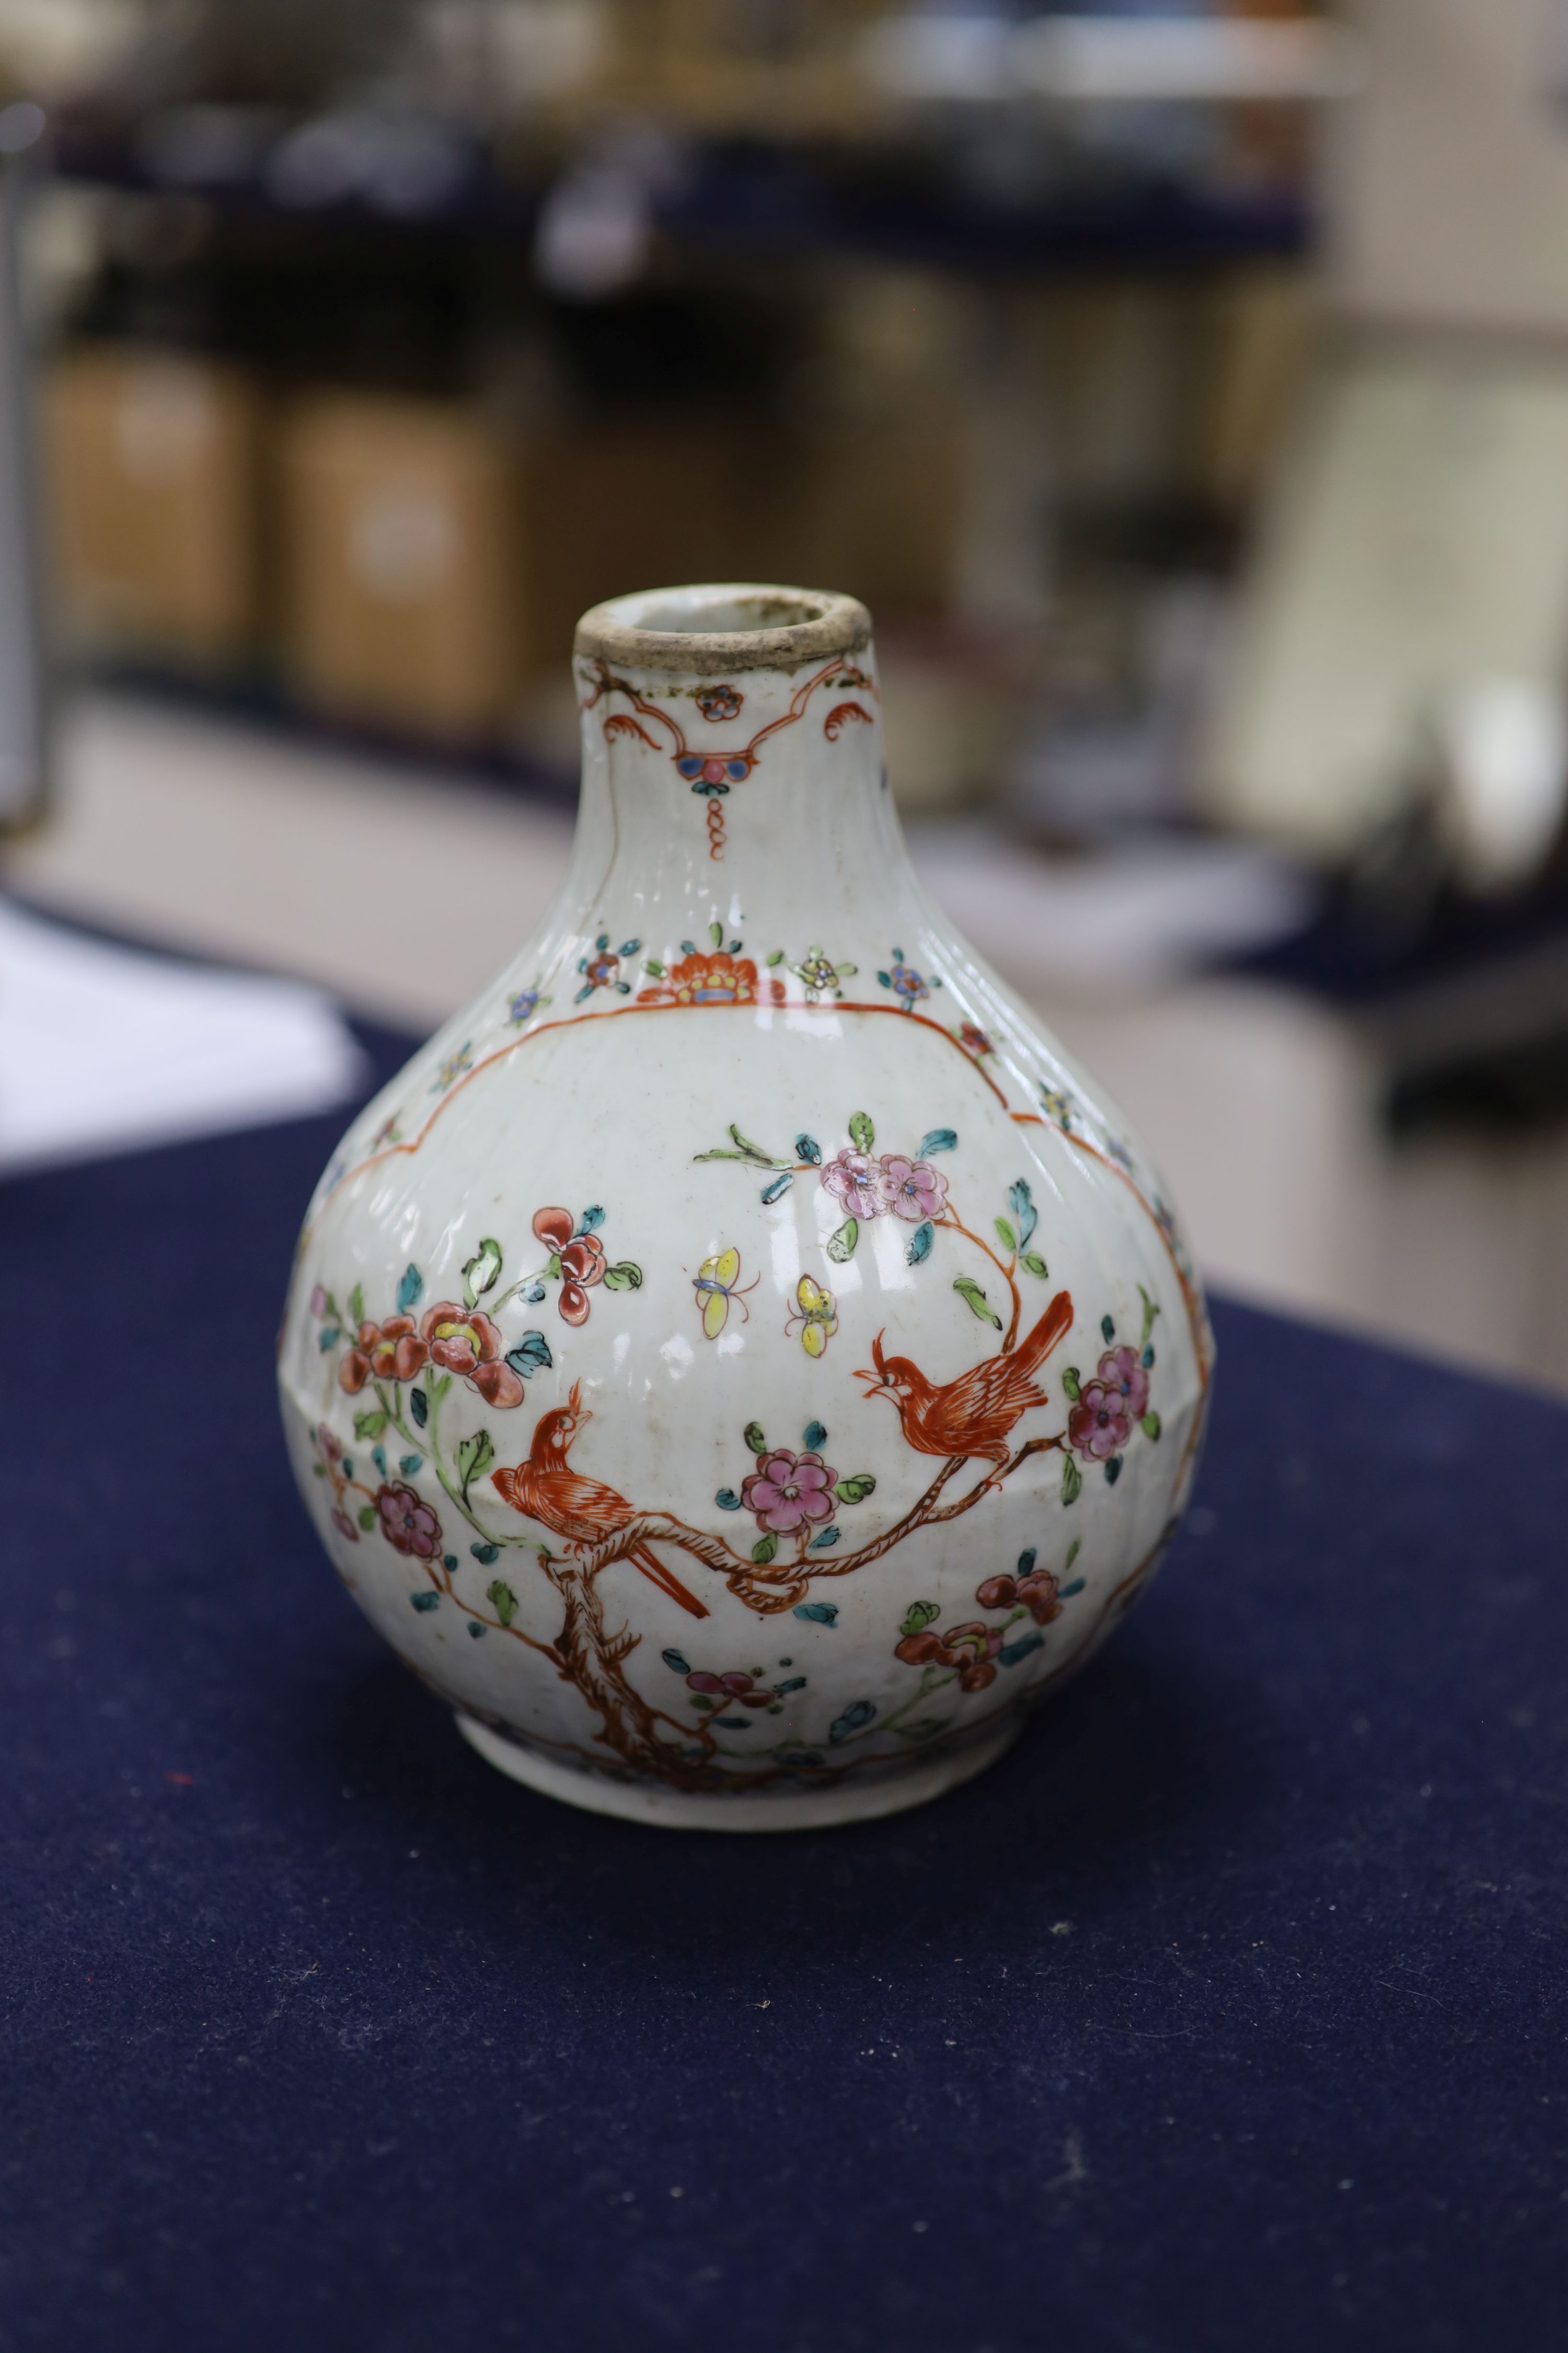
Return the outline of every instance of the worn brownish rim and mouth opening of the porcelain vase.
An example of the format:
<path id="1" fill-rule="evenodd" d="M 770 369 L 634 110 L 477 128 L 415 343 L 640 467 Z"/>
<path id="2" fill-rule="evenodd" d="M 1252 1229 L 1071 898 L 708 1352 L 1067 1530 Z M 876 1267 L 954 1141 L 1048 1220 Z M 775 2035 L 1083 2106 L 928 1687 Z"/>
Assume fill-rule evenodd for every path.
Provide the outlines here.
<path id="1" fill-rule="evenodd" d="M 835 588 L 780 588 L 769 581 L 708 581 L 639 588 L 595 605 L 576 626 L 576 654 L 717 678 L 724 671 L 797 671 L 806 661 L 870 645 L 865 605 Z"/>

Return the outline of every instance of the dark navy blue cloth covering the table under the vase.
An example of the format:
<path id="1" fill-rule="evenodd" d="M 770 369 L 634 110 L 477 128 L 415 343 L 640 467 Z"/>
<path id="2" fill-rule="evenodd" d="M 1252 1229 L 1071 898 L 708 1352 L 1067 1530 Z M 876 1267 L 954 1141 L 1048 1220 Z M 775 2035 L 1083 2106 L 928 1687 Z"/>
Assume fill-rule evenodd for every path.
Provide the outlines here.
<path id="1" fill-rule="evenodd" d="M 1563 2344 L 1563 1407 L 1220 1308 L 1190 1529 L 1013 1755 L 632 1828 L 306 1525 L 339 1127 L 0 1191 L 7 2353 Z"/>

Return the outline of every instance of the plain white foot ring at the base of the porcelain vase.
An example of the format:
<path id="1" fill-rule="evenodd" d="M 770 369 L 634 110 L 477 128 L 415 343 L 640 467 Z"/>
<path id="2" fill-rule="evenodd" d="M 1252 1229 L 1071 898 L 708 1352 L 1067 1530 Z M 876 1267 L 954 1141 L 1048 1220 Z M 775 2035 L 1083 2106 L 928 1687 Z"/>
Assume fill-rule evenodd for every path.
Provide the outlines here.
<path id="1" fill-rule="evenodd" d="M 1013 1718 L 990 1739 L 959 1748 L 931 1765 L 912 1765 L 882 1781 L 839 1784 L 839 1788 L 809 1795 L 806 1791 L 785 1798 L 701 1798 L 682 1788 L 651 1788 L 635 1781 L 609 1781 L 597 1774 L 576 1772 L 571 1765 L 555 1765 L 534 1755 L 515 1741 L 501 1739 L 473 1715 L 456 1713 L 463 1739 L 498 1772 L 538 1791 L 541 1798 L 562 1798 L 581 1805 L 590 1814 L 616 1814 L 621 1821 L 651 1821 L 663 1831 L 830 1831 L 844 1821 L 875 1821 L 877 1814 L 903 1814 L 910 1805 L 926 1805 L 943 1791 L 971 1781 L 987 1765 L 1013 1746 L 1023 1729 L 1023 1718 Z"/>

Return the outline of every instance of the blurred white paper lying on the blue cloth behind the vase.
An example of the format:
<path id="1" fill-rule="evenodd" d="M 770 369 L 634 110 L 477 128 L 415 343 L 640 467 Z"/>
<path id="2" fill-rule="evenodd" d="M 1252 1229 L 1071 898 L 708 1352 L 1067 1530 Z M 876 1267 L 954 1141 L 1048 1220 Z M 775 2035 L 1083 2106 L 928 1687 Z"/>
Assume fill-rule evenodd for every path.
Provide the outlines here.
<path id="1" fill-rule="evenodd" d="M 320 988 L 165 962 L 0 899 L 0 1174 L 303 1118 L 362 1082 Z"/>

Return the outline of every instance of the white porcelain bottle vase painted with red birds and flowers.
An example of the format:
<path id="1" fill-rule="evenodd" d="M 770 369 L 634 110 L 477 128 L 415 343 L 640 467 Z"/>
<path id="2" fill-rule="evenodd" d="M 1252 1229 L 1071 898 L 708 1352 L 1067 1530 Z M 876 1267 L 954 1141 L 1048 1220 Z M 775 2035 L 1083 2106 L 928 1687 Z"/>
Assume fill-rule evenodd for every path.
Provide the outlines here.
<path id="1" fill-rule="evenodd" d="M 933 1798 L 1147 1584 L 1211 1339 L 1121 1118 L 919 889 L 870 616 L 578 626 L 543 929 L 355 1120 L 280 1377 L 343 1584 L 531 1788 Z M 458 920 L 503 922 L 484 875 Z"/>

